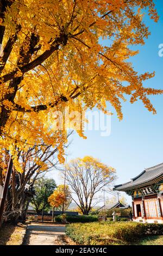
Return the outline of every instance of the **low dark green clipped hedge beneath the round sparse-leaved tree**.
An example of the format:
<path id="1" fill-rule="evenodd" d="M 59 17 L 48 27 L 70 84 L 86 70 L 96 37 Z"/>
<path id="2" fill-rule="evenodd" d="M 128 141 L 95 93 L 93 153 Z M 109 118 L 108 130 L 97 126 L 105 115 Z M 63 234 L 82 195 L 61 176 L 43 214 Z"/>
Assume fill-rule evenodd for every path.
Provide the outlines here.
<path id="1" fill-rule="evenodd" d="M 87 222 L 98 221 L 98 216 L 93 216 L 93 215 L 77 215 L 77 216 L 66 215 L 64 217 L 66 218 L 66 222 L 69 222 L 69 223 L 78 223 L 78 222 L 87 223 Z M 63 216 L 62 215 L 55 216 L 55 221 L 63 222 Z"/>

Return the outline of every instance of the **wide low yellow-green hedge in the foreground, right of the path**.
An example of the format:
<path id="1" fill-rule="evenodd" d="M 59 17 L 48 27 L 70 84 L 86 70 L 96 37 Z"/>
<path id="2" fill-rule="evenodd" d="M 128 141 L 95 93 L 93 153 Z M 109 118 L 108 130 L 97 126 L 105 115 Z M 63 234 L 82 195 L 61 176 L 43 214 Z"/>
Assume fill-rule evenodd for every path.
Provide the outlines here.
<path id="1" fill-rule="evenodd" d="M 163 235 L 163 224 L 99 222 L 69 224 L 66 234 L 80 245 L 127 245 L 143 236 Z"/>

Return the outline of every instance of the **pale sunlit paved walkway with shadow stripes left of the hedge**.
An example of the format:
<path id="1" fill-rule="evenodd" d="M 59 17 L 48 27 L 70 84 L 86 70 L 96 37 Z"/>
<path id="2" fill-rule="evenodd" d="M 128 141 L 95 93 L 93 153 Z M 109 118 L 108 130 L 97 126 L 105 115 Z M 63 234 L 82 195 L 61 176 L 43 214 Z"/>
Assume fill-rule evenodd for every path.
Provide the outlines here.
<path id="1" fill-rule="evenodd" d="M 24 245 L 61 245 L 64 224 L 29 224 Z"/>

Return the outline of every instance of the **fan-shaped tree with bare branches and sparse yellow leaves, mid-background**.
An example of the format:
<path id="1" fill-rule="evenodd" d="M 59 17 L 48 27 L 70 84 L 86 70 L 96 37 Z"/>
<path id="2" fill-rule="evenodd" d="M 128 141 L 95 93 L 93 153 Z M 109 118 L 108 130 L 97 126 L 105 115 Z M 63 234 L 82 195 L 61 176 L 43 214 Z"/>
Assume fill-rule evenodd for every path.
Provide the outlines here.
<path id="1" fill-rule="evenodd" d="M 72 199 L 84 215 L 88 215 L 95 195 L 103 187 L 110 188 L 116 178 L 115 169 L 91 156 L 70 161 L 66 166 L 66 183 L 71 187 Z M 78 200 L 77 200 L 77 199 Z"/>

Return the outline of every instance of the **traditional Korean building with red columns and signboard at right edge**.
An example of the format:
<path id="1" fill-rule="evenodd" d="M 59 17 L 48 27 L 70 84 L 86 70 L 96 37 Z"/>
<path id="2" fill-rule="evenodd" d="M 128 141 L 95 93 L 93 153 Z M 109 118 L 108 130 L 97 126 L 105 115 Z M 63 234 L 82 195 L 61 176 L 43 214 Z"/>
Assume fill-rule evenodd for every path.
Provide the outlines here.
<path id="1" fill-rule="evenodd" d="M 163 163 L 143 170 L 114 190 L 132 197 L 134 221 L 163 223 Z"/>

